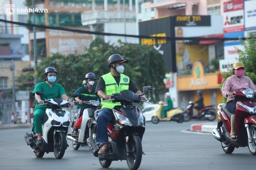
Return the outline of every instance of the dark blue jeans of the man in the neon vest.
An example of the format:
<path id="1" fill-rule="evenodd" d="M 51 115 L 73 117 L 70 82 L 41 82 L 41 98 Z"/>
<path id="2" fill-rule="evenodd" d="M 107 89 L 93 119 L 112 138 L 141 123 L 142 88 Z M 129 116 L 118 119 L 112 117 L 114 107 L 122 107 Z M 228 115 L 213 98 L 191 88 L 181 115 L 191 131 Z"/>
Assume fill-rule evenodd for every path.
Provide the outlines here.
<path id="1" fill-rule="evenodd" d="M 104 107 L 98 115 L 97 118 L 97 144 L 100 143 L 109 143 L 107 139 L 107 123 L 111 121 L 113 117 L 112 109 Z"/>

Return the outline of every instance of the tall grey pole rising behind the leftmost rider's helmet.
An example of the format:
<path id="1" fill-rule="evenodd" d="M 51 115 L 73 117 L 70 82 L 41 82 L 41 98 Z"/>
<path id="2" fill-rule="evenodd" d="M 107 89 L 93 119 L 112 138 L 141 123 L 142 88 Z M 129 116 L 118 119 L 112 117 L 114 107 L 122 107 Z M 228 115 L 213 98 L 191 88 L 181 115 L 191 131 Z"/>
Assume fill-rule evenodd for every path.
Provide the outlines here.
<path id="1" fill-rule="evenodd" d="M 32 0 L 32 6 L 35 9 L 35 0 Z M 35 19 L 35 12 L 33 12 L 33 24 L 36 24 L 36 19 Z M 35 61 L 35 66 L 34 66 L 34 70 L 35 70 L 35 86 L 38 83 L 38 72 L 36 69 L 37 66 L 37 49 L 36 49 L 36 27 L 33 27 L 33 33 L 34 33 L 34 39 L 33 39 L 33 45 L 34 45 L 34 61 Z"/>

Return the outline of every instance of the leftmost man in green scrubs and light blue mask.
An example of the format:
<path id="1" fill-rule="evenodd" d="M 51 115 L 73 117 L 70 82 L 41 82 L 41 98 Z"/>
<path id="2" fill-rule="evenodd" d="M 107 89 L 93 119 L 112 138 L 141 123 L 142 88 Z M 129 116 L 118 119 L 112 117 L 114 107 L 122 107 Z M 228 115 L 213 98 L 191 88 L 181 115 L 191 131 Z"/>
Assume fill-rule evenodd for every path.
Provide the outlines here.
<path id="1" fill-rule="evenodd" d="M 45 82 L 38 83 L 33 91 L 33 95 L 35 96 L 37 103 L 34 110 L 34 123 L 33 123 L 33 131 L 37 134 L 38 140 L 36 142 L 37 146 L 43 145 L 42 140 L 42 118 L 43 114 L 45 113 L 45 110 L 48 108 L 45 105 L 42 105 L 44 103 L 44 100 L 46 97 L 44 95 L 40 96 L 37 95 L 36 92 L 43 92 L 48 99 L 52 98 L 62 98 L 64 100 L 68 100 L 68 97 L 66 95 L 65 89 L 62 87 L 62 85 L 55 83 L 56 81 L 56 75 L 57 71 L 54 67 L 47 67 L 45 69 Z M 73 103 L 69 102 L 69 104 L 73 107 Z"/>

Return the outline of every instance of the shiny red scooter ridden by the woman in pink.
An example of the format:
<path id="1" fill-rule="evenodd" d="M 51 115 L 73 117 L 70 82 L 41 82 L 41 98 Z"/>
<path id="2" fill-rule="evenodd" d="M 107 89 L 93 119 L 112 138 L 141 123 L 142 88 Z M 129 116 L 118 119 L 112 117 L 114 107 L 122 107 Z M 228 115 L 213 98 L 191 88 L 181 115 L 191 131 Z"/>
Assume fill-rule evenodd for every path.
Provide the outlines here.
<path id="1" fill-rule="evenodd" d="M 237 139 L 230 138 L 230 117 L 226 104 L 218 105 L 218 114 L 221 120 L 217 128 L 212 131 L 213 137 L 221 142 L 225 153 L 232 153 L 235 148 L 248 146 L 251 154 L 256 155 L 256 102 L 255 92 L 251 89 L 242 89 L 234 92 L 237 100 L 235 111 L 235 129 Z"/>

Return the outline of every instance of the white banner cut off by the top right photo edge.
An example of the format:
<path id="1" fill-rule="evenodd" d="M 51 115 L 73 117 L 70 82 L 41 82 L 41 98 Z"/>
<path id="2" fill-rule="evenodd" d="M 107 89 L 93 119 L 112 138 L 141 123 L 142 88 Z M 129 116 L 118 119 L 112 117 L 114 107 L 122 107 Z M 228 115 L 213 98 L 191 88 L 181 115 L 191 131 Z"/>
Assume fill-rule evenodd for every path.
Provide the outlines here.
<path id="1" fill-rule="evenodd" d="M 245 30 L 256 29 L 256 0 L 246 0 L 244 2 Z"/>

